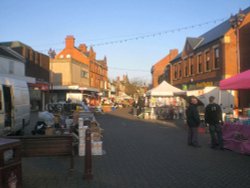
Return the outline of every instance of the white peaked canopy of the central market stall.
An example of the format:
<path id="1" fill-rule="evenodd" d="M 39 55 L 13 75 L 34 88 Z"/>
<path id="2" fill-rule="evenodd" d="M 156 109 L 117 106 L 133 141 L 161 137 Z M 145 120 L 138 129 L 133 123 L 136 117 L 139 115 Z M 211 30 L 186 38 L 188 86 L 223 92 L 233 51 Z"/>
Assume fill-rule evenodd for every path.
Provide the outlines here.
<path id="1" fill-rule="evenodd" d="M 147 96 L 158 96 L 158 97 L 163 97 L 163 96 L 174 96 L 174 95 L 181 95 L 185 94 L 186 92 L 176 88 L 166 81 L 163 81 L 160 85 L 156 86 L 155 88 L 147 91 Z"/>

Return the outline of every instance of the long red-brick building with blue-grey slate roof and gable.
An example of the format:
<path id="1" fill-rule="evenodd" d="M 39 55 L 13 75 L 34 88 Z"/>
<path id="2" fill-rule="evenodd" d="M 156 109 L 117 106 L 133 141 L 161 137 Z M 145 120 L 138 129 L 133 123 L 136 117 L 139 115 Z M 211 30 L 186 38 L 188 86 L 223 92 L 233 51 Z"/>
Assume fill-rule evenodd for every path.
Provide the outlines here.
<path id="1" fill-rule="evenodd" d="M 166 80 L 184 90 L 219 86 L 220 80 L 238 73 L 238 52 L 240 70 L 250 69 L 250 7 L 242 13 L 245 18 L 239 26 L 239 50 L 228 19 L 199 37 L 188 37 L 184 50 L 166 66 Z M 236 107 L 250 105 L 249 91 L 234 93 Z"/>

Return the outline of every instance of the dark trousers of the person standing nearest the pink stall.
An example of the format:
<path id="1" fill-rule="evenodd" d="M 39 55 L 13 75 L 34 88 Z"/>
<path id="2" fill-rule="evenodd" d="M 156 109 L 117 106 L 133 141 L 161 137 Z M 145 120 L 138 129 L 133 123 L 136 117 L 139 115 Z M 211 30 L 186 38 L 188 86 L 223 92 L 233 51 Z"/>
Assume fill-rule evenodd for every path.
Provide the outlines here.
<path id="1" fill-rule="evenodd" d="M 223 148 L 221 125 L 209 125 L 209 133 L 211 137 L 211 147 L 216 147 L 218 144 L 220 148 Z"/>

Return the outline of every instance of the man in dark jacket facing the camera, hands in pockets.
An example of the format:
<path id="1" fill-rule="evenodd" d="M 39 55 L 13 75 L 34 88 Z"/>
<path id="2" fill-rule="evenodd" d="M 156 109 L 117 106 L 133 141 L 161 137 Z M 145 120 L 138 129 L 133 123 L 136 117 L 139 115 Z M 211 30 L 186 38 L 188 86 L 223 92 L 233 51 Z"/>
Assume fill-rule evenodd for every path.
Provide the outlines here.
<path id="1" fill-rule="evenodd" d="M 187 125 L 188 125 L 188 145 L 201 147 L 198 143 L 198 127 L 200 125 L 200 116 L 197 109 L 198 100 L 190 97 L 189 106 L 186 110 Z"/>

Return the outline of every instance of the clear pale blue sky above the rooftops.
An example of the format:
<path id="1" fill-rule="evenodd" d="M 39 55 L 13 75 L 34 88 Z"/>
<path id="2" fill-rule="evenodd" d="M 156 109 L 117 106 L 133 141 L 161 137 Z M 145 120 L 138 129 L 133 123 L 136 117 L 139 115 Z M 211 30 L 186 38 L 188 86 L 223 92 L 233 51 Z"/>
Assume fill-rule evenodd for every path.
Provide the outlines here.
<path id="1" fill-rule="evenodd" d="M 151 67 L 171 49 L 250 6 L 250 0 L 1 0 L 0 42 L 20 41 L 47 54 L 93 46 L 107 57 L 108 77 L 151 82 Z M 187 29 L 183 29 L 188 27 Z"/>

